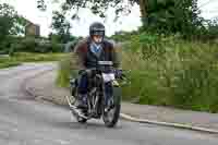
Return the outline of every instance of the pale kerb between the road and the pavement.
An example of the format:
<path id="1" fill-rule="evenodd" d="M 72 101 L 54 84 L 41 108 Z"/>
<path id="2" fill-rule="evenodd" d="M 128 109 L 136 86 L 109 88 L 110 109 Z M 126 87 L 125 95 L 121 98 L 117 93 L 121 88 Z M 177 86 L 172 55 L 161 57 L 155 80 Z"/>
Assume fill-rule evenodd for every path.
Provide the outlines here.
<path id="1" fill-rule="evenodd" d="M 34 94 L 34 92 L 31 90 L 27 87 L 27 83 L 28 83 L 29 80 L 36 78 L 37 76 L 43 75 L 45 73 L 48 73 L 48 72 L 50 72 L 52 70 L 55 70 L 55 69 L 52 68 L 52 69 L 46 70 L 46 71 L 39 72 L 39 73 L 37 73 L 37 74 L 35 74 L 35 75 L 33 75 L 31 77 L 27 77 L 23 83 L 23 90 L 25 93 L 27 93 L 28 95 L 35 97 L 35 98 L 39 97 L 39 96 L 36 96 Z M 49 101 L 49 102 L 52 102 L 52 104 L 56 104 L 56 105 L 60 105 L 60 104 L 57 104 L 57 102 L 51 101 L 49 99 L 45 99 L 43 96 L 40 96 L 40 99 Z M 140 119 L 140 118 L 135 118 L 135 117 L 132 117 L 130 114 L 122 113 L 122 112 L 120 113 L 120 117 L 122 119 L 131 121 L 131 122 L 148 123 L 148 124 L 156 124 L 156 125 L 161 125 L 161 126 L 170 126 L 170 128 L 175 128 L 175 129 L 186 129 L 186 130 L 191 130 L 191 131 L 198 131 L 198 132 L 204 132 L 204 133 L 209 133 L 209 134 L 218 134 L 218 130 L 198 128 L 198 126 L 189 125 L 189 124 L 181 124 L 181 123 L 170 123 L 170 122 L 162 122 L 162 121 L 156 121 L 156 120 Z"/>

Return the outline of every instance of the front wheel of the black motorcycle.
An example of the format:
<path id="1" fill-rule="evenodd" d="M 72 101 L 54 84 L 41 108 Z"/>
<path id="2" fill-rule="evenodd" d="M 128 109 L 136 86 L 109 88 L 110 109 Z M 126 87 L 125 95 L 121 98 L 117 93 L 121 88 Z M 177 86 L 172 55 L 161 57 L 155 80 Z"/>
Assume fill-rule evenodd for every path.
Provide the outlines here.
<path id="1" fill-rule="evenodd" d="M 102 120 L 108 128 L 113 128 L 120 118 L 121 110 L 121 88 L 113 87 L 112 106 L 109 110 L 104 109 Z"/>

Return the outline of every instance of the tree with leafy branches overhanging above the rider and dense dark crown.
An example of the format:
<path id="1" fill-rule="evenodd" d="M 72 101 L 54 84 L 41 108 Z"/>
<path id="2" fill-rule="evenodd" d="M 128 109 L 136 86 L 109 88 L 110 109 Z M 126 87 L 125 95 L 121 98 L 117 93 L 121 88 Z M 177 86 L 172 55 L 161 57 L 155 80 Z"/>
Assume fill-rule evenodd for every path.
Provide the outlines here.
<path id="1" fill-rule="evenodd" d="M 197 0 L 65 0 L 62 12 L 88 8 L 94 14 L 105 17 L 105 12 L 112 7 L 116 8 L 119 17 L 122 12 L 130 13 L 131 7 L 135 3 L 140 5 L 144 29 L 189 36 L 191 32 L 198 33 L 198 29 L 204 27 Z M 75 12 L 72 17 L 78 17 L 77 13 Z"/>

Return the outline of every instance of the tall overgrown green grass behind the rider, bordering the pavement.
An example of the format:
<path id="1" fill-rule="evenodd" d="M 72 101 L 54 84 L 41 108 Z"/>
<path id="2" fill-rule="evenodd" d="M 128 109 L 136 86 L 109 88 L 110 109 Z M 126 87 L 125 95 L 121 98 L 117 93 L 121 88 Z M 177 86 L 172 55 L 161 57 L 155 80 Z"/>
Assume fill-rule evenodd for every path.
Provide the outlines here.
<path id="1" fill-rule="evenodd" d="M 60 63 L 59 86 L 69 84 L 69 61 Z M 218 112 L 218 44 L 135 36 L 123 46 L 122 68 L 131 70 L 124 100 Z"/>

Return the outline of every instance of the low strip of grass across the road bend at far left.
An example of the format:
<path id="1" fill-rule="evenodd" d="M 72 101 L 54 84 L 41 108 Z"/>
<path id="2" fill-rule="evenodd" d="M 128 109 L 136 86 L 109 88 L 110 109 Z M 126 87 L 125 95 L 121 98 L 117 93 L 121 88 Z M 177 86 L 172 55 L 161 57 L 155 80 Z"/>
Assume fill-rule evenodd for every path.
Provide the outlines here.
<path id="1" fill-rule="evenodd" d="M 19 52 L 13 57 L 0 58 L 0 69 L 20 65 L 22 62 L 46 62 L 46 61 L 60 61 L 66 57 L 65 53 L 29 53 Z"/>

